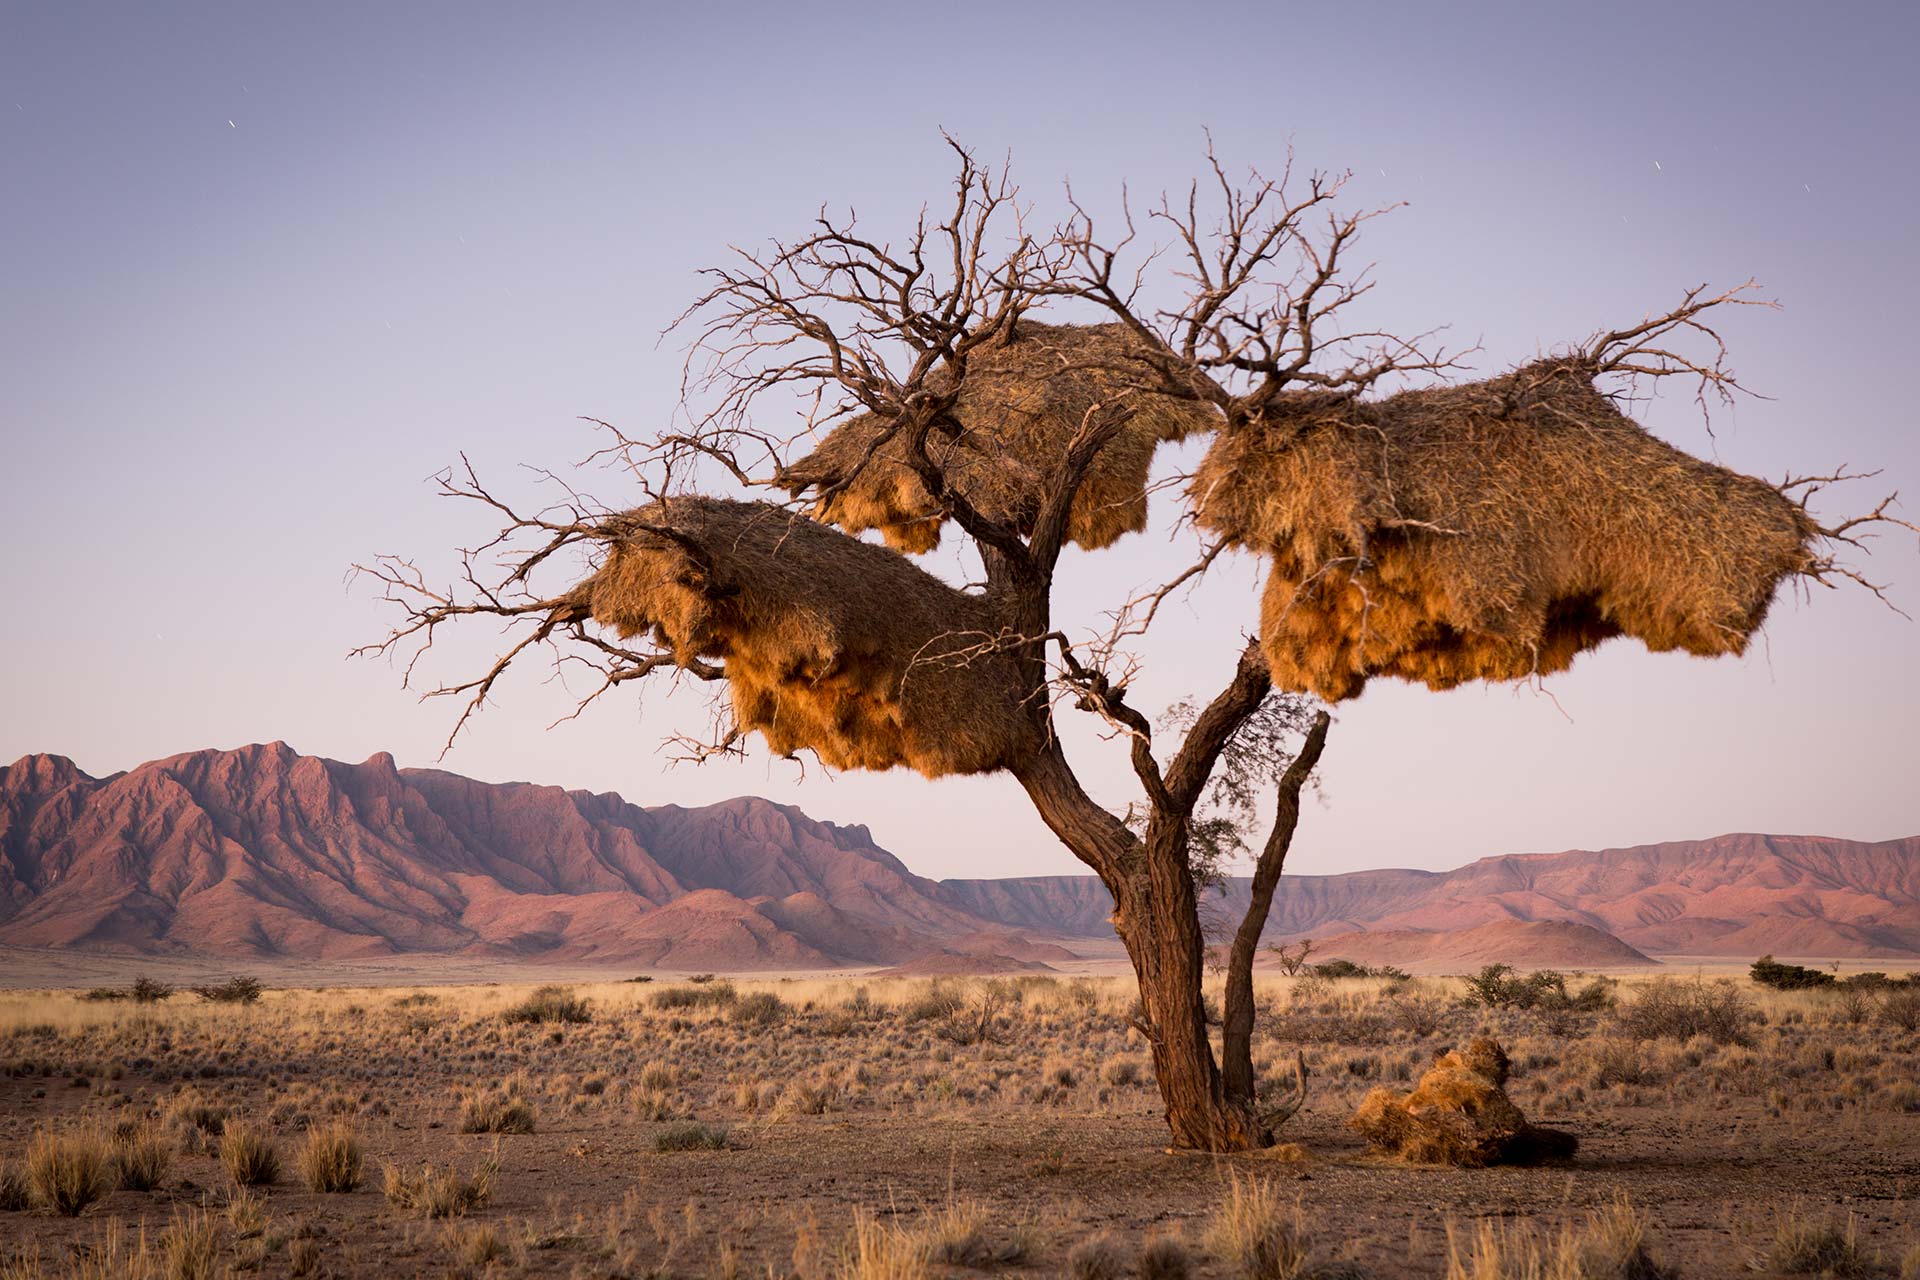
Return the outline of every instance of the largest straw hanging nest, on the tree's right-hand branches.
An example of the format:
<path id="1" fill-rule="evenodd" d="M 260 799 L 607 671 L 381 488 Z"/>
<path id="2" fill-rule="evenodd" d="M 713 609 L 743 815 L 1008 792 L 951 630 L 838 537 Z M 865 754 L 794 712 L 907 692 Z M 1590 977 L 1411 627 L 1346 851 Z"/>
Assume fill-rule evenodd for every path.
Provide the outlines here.
<path id="1" fill-rule="evenodd" d="M 1223 432 L 1192 499 L 1271 557 L 1277 685 L 1432 689 L 1569 668 L 1615 635 L 1738 654 L 1818 524 L 1764 480 L 1624 416 L 1576 361 L 1380 401 L 1302 393 Z"/>

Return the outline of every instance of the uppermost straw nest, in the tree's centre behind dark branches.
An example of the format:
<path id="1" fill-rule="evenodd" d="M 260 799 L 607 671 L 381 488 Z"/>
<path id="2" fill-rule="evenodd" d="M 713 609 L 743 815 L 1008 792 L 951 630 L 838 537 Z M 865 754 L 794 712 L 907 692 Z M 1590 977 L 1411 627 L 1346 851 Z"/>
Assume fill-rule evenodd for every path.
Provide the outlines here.
<path id="1" fill-rule="evenodd" d="M 983 514 L 1031 533 L 1050 476 L 1094 405 L 1133 416 L 1094 455 L 1068 518 L 1068 537 L 1106 547 L 1146 528 L 1146 480 L 1154 449 L 1215 430 L 1212 405 L 1146 391 L 1152 378 L 1140 340 L 1123 324 L 1020 320 L 1006 342 L 968 357 L 948 422 L 927 432 L 927 457 L 945 482 Z M 945 384 L 935 376 L 931 390 Z M 889 418 L 860 415 L 833 428 L 820 447 L 783 466 L 776 482 L 793 495 L 843 486 L 814 516 L 849 533 L 879 530 L 889 547 L 933 551 L 945 512 L 899 439 L 883 439 Z"/>

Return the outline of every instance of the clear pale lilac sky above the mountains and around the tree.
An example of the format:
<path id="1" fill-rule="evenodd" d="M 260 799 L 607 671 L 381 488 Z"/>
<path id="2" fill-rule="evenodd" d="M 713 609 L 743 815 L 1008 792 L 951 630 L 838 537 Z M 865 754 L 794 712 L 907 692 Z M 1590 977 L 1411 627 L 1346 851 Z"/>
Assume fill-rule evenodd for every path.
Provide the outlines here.
<path id="1" fill-rule="evenodd" d="M 664 687 L 549 727 L 572 700 L 530 668 L 442 758 L 457 708 L 348 658 L 390 616 L 346 570 L 444 574 L 490 532 L 432 495 L 463 451 L 530 497 L 524 466 L 597 445 L 582 415 L 666 426 L 697 269 L 822 203 L 899 234 L 945 196 L 943 129 L 1048 215 L 1064 180 L 1183 188 L 1206 130 L 1233 165 L 1352 169 L 1354 207 L 1405 203 L 1363 242 L 1377 311 L 1488 372 L 1753 276 L 1782 309 L 1724 332 L 1764 399 L 1713 436 L 1684 393 L 1642 418 L 1749 474 L 1882 468 L 1818 510 L 1907 489 L 1920 518 L 1916 38 L 1893 4 L 0 6 L 0 760 L 280 739 L 639 804 L 764 794 L 925 875 L 1075 871 L 1004 777 L 668 766 L 708 710 Z M 1069 553 L 1064 614 L 1185 564 L 1175 510 Z M 1920 614 L 1916 539 L 1864 568 Z M 1210 695 L 1256 620 L 1258 566 L 1219 568 L 1135 700 Z M 1916 654 L 1920 624 L 1814 587 L 1743 658 L 1615 641 L 1542 687 L 1375 681 L 1290 869 L 1912 835 Z M 1073 745 L 1123 804 L 1123 760 Z"/>

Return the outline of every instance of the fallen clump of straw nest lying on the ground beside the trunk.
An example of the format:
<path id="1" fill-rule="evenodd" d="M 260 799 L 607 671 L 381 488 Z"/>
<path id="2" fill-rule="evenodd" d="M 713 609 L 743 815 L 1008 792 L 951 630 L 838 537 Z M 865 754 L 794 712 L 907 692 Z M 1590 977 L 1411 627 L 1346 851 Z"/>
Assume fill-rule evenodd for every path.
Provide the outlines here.
<path id="1" fill-rule="evenodd" d="M 1528 1125 L 1505 1082 L 1507 1054 L 1482 1036 L 1442 1054 L 1411 1094 L 1375 1088 L 1348 1123 L 1375 1150 L 1417 1165 L 1480 1169 L 1571 1157 L 1578 1138 Z"/>

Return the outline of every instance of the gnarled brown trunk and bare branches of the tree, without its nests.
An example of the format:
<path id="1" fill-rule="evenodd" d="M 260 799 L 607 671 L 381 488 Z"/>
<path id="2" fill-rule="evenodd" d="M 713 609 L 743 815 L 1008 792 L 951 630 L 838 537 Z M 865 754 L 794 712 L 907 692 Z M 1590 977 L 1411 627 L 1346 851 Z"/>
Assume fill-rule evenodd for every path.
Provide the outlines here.
<path id="1" fill-rule="evenodd" d="M 447 495 L 492 509 L 503 528 L 463 553 L 453 587 L 430 587 L 403 558 L 365 566 L 405 610 L 394 633 L 369 649 L 424 651 L 442 624 L 505 620 L 515 639 L 486 672 L 430 691 L 465 699 L 459 723 L 534 649 L 551 649 L 563 666 L 591 668 L 595 687 L 586 702 L 662 672 L 726 681 L 724 658 L 609 639 L 572 581 L 541 591 L 536 580 L 563 560 L 578 578 L 582 560 L 591 570 L 609 547 L 649 535 L 684 543 L 693 576 L 707 583 L 701 589 L 718 597 L 732 587 L 724 570 L 703 560 L 708 549 L 647 512 L 670 510 L 676 493 L 714 476 L 776 487 L 803 441 L 864 415 L 876 424 L 866 457 L 904 466 L 935 516 L 956 524 L 979 557 L 985 581 L 975 595 L 998 629 L 947 645 L 939 660 L 993 654 L 1004 662 L 1010 695 L 1037 743 L 1004 768 L 1114 898 L 1114 927 L 1139 979 L 1139 1027 L 1150 1038 L 1175 1144 L 1215 1151 L 1265 1146 L 1273 1123 L 1300 1105 L 1306 1073 L 1302 1065 L 1294 1094 L 1277 1105 L 1256 1094 L 1252 971 L 1331 716 L 1309 699 L 1277 691 L 1254 639 L 1210 699 L 1181 702 L 1158 722 L 1131 700 L 1139 637 L 1175 591 L 1206 574 L 1223 543 L 1200 545 L 1192 564 L 1165 585 L 1119 603 L 1112 626 L 1096 635 L 1069 635 L 1056 624 L 1054 576 L 1075 499 L 1142 397 L 1206 407 L 1219 430 L 1233 432 L 1288 395 L 1354 397 L 1388 378 L 1440 374 L 1453 357 L 1425 336 L 1346 324 L 1348 309 L 1371 288 L 1367 273 L 1348 259 L 1373 215 L 1334 211 L 1336 177 L 1256 173 L 1233 180 L 1213 163 L 1206 186 L 1183 200 L 1164 198 L 1150 211 L 1150 225 L 1167 232 L 1165 244 L 1150 246 L 1131 213 L 1116 238 L 1104 238 L 1071 194 L 1066 221 L 1041 230 L 1004 171 L 952 150 L 958 177 L 950 201 L 924 213 L 904 242 L 870 238 L 851 213 L 824 211 L 803 238 L 735 251 L 730 265 L 707 273 L 707 292 L 678 322 L 691 334 L 682 416 L 651 438 L 607 428 L 612 445 L 595 455 L 620 462 L 641 497 L 664 507 L 622 512 L 566 489 L 553 509 L 522 512 L 470 470 L 447 474 Z M 956 420 L 956 403 L 970 368 L 1006 344 L 1023 317 L 1048 305 L 1091 311 L 1131 336 L 1123 355 L 1102 357 L 1110 365 L 1102 374 L 1119 390 L 1087 405 L 1044 459 L 1029 503 L 989 503 L 950 464 L 954 441 L 972 430 Z M 1690 296 L 1663 320 L 1605 334 L 1592 359 L 1655 376 L 1684 368 L 1722 388 L 1728 378 L 1718 365 L 1680 361 L 1655 345 L 1678 328 L 1703 328 L 1695 317 L 1705 305 Z M 770 428 L 793 403 L 803 407 L 803 422 L 791 432 Z M 856 472 L 820 480 L 801 501 L 820 510 Z M 419 652 L 409 679 L 417 660 Z M 1054 731 L 1062 710 L 1094 716 L 1125 745 L 1139 785 L 1127 814 L 1087 794 Z M 712 741 L 687 748 L 695 756 L 735 752 L 741 737 L 743 727 L 722 718 Z M 1223 931 L 1229 946 L 1215 1055 L 1202 1000 L 1202 898 L 1231 860 L 1250 852 L 1256 814 L 1269 808 L 1252 854 L 1250 904 Z"/>

